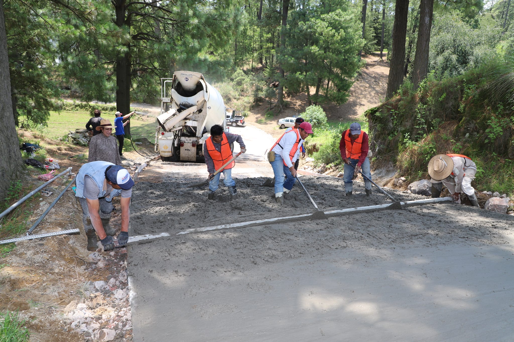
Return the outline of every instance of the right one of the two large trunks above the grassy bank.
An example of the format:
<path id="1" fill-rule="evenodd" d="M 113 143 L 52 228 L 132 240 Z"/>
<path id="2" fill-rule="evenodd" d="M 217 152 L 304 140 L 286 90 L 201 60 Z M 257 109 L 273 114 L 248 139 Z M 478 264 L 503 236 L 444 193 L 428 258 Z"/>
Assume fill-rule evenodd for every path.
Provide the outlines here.
<path id="1" fill-rule="evenodd" d="M 412 84 L 417 89 L 419 83 L 427 77 L 428 73 L 428 52 L 430 47 L 430 30 L 432 29 L 432 14 L 434 10 L 434 0 L 421 0 L 419 6 L 419 30 L 416 42 L 416 55 L 414 56 L 414 66 Z"/>

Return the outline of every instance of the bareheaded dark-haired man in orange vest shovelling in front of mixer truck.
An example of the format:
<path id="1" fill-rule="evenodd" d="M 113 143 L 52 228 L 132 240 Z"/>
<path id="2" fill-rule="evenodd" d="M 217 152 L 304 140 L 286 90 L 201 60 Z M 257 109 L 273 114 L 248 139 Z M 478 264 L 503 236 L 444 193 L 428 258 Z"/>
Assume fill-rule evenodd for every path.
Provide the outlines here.
<path id="1" fill-rule="evenodd" d="M 204 144 L 204 156 L 205 164 L 207 164 L 207 170 L 209 171 L 209 178 L 221 169 L 225 163 L 232 159 L 232 149 L 230 144 L 237 142 L 241 148 L 241 152 L 246 152 L 245 143 L 241 135 L 225 133 L 223 127 L 219 125 L 213 125 L 211 127 L 211 136 L 205 140 Z M 235 165 L 235 161 L 227 165 L 223 170 L 220 170 L 214 178 L 209 182 L 209 192 L 207 197 L 214 199 L 214 192 L 218 189 L 219 176 L 223 172 L 223 183 L 228 187 L 230 192 L 230 199 L 237 198 L 237 189 L 235 188 L 235 181 L 232 179 L 232 168 Z"/>

